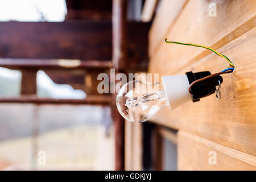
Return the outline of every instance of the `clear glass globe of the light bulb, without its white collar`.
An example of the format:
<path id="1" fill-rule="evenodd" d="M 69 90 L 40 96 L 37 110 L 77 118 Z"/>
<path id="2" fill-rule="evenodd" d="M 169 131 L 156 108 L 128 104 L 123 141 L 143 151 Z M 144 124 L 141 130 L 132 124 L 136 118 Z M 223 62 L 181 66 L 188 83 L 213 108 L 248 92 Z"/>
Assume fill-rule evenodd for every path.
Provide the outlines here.
<path id="1" fill-rule="evenodd" d="M 147 121 L 168 105 L 162 82 L 151 84 L 139 80 L 123 85 L 116 102 L 119 113 L 131 122 Z"/>

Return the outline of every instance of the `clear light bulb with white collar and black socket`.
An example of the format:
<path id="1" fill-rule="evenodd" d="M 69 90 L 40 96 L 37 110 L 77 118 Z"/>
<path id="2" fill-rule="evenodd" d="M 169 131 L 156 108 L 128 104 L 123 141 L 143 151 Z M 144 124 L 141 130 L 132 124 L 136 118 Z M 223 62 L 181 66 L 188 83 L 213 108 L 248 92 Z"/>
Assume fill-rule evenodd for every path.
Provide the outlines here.
<path id="1" fill-rule="evenodd" d="M 148 121 L 157 111 L 165 106 L 170 110 L 186 102 L 197 102 L 200 98 L 213 94 L 215 86 L 220 85 L 222 77 L 212 76 L 189 85 L 200 78 L 207 77 L 210 72 L 187 72 L 185 75 L 163 76 L 162 81 L 155 84 L 143 81 L 130 81 L 123 85 L 117 94 L 117 109 L 127 121 Z M 189 93 L 189 90 L 192 93 Z"/>

